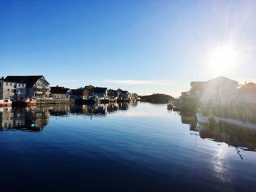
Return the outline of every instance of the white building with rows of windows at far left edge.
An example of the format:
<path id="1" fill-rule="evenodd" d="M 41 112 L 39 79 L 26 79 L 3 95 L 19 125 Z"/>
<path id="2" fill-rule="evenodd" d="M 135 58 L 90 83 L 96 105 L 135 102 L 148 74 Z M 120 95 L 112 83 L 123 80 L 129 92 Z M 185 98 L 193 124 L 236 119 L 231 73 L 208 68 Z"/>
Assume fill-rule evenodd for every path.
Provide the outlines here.
<path id="1" fill-rule="evenodd" d="M 18 99 L 25 96 L 26 83 L 17 83 L 0 79 L 0 99 Z"/>

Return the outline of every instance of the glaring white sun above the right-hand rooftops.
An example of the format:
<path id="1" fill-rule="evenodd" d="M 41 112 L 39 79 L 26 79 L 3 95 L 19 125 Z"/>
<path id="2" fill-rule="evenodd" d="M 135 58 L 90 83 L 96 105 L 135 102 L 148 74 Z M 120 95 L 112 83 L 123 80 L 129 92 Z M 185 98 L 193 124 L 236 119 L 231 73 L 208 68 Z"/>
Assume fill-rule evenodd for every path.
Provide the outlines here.
<path id="1" fill-rule="evenodd" d="M 211 72 L 223 74 L 233 70 L 237 63 L 237 53 L 233 46 L 222 46 L 212 51 L 209 59 Z"/>

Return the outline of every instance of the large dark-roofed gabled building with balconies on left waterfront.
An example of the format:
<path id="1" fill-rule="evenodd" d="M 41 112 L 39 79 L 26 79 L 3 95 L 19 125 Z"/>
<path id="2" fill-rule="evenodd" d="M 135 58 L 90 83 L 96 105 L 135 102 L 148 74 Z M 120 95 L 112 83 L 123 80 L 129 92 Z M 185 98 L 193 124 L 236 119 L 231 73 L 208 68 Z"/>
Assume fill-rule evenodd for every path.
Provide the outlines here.
<path id="1" fill-rule="evenodd" d="M 50 96 L 50 83 L 42 75 L 7 76 L 4 81 L 26 84 L 26 96 L 37 99 L 48 99 Z"/>

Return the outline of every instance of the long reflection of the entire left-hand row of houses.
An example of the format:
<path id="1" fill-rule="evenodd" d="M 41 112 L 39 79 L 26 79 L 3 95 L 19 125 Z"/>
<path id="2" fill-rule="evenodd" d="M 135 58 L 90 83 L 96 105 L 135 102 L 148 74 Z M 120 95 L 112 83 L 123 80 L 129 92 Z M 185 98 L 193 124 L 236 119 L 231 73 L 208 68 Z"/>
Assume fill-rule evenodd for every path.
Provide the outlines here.
<path id="1" fill-rule="evenodd" d="M 42 131 L 51 116 L 69 116 L 83 114 L 105 116 L 118 110 L 128 110 L 129 103 L 98 104 L 98 105 L 66 105 L 36 106 L 36 107 L 1 107 L 0 130 Z M 135 104 L 133 104 L 135 105 Z"/>

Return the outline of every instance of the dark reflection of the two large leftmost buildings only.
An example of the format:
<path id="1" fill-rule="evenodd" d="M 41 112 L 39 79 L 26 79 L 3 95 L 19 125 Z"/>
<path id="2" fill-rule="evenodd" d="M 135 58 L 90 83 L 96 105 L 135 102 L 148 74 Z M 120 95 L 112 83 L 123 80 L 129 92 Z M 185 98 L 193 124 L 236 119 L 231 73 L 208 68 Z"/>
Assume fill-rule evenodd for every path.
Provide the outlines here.
<path id="1" fill-rule="evenodd" d="M 48 108 L 0 108 L 0 130 L 42 131 L 49 122 Z"/>

